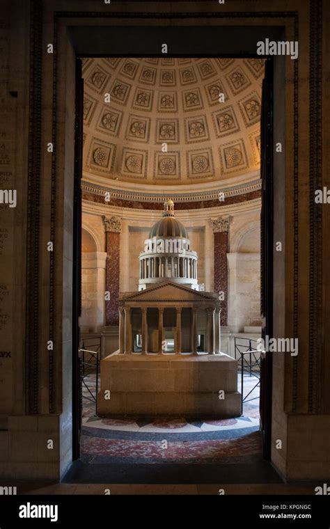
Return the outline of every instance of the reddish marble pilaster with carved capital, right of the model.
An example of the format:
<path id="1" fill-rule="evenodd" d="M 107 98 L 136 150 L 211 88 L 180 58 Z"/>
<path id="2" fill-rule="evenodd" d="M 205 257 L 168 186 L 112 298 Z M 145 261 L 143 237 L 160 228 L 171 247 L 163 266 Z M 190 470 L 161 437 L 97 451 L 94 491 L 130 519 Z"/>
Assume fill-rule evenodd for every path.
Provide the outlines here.
<path id="1" fill-rule="evenodd" d="M 228 317 L 228 230 L 229 219 L 219 216 L 212 220 L 214 233 L 214 292 L 223 292 L 221 325 L 227 325 Z"/>

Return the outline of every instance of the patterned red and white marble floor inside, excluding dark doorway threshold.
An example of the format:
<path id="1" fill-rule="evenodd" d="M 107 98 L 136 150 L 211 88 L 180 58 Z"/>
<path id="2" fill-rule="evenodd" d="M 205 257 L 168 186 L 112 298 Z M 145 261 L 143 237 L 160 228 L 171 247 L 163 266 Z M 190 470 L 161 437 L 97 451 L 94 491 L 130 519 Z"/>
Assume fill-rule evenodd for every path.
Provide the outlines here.
<path id="1" fill-rule="evenodd" d="M 95 376 L 85 379 L 95 395 Z M 239 376 L 240 384 L 240 376 Z M 81 461 L 92 464 L 221 464 L 260 460 L 259 388 L 244 375 L 244 395 L 251 390 L 239 418 L 116 418 L 95 416 L 95 403 L 84 386 Z M 240 388 L 240 386 L 239 386 Z M 251 400 L 253 399 L 253 400 Z"/>

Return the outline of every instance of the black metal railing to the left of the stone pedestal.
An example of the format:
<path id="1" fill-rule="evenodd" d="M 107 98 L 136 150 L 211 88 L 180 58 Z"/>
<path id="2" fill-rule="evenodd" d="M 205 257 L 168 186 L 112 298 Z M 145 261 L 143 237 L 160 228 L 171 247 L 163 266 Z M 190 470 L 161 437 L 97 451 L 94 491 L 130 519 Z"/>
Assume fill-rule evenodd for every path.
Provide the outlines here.
<path id="1" fill-rule="evenodd" d="M 97 416 L 97 393 L 99 389 L 101 352 L 101 336 L 81 339 L 79 347 L 79 358 L 81 365 L 81 399 L 85 399 L 88 400 L 88 402 L 95 403 L 95 416 Z M 95 374 L 95 392 L 93 391 L 91 384 L 88 384 L 88 376 L 91 374 Z M 83 386 L 87 390 L 87 395 L 84 395 L 84 393 L 82 392 Z"/>

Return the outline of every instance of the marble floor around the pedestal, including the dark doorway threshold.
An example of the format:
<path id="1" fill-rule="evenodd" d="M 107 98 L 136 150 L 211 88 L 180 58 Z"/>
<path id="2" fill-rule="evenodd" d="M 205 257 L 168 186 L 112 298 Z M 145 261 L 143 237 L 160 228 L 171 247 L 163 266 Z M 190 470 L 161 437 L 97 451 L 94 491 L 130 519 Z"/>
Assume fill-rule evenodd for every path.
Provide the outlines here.
<path id="1" fill-rule="evenodd" d="M 239 384 L 240 381 L 239 374 Z M 93 375 L 89 375 L 86 386 L 95 392 Z M 191 482 L 192 472 L 200 482 L 214 482 L 221 467 L 227 482 L 235 482 L 239 475 L 251 482 L 280 482 L 262 460 L 259 388 L 254 386 L 256 379 L 245 374 L 244 395 L 252 392 L 242 416 L 218 420 L 100 418 L 84 387 L 81 458 L 68 479 L 93 481 L 98 477 L 103 482 L 110 471 L 118 482 L 159 482 L 162 468 L 163 482 L 172 482 L 175 475 L 175 481 L 180 476 L 184 482 Z"/>

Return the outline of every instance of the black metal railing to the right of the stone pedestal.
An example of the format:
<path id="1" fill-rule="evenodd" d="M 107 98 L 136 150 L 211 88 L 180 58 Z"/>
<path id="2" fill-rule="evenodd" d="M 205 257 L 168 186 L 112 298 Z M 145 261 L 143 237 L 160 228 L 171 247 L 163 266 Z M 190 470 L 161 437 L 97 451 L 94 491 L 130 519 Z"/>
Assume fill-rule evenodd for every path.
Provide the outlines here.
<path id="1" fill-rule="evenodd" d="M 235 336 L 235 360 L 239 362 L 241 369 L 241 413 L 243 413 L 243 405 L 252 400 L 258 400 L 259 397 L 248 397 L 256 388 L 260 388 L 260 349 L 257 349 L 257 340 L 253 338 L 244 338 Z M 241 342 L 241 343 L 239 343 Z M 243 342 L 243 343 L 242 343 Z M 257 379 L 255 386 L 244 397 L 244 373 L 248 373 L 250 377 Z"/>

